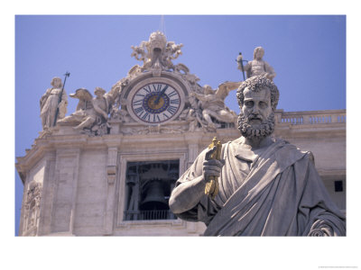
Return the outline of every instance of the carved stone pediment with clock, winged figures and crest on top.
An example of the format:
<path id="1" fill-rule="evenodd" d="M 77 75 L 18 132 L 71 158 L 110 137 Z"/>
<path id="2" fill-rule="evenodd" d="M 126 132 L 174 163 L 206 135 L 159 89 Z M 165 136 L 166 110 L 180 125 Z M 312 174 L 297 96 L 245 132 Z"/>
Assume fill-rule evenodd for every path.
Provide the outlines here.
<path id="1" fill-rule="evenodd" d="M 88 136 L 213 132 L 236 126 L 236 113 L 227 108 L 225 98 L 240 83 L 226 82 L 217 90 L 199 85 L 199 77 L 191 74 L 189 67 L 173 63 L 182 47 L 168 41 L 161 31 L 154 31 L 149 40 L 131 46 L 131 56 L 141 61 L 139 65 L 131 67 L 108 93 L 97 87 L 96 97 L 84 88 L 70 94 L 79 99 L 76 112 L 57 125 Z M 169 125 L 173 121 L 179 126 Z M 143 125 L 138 127 L 136 122 Z"/>

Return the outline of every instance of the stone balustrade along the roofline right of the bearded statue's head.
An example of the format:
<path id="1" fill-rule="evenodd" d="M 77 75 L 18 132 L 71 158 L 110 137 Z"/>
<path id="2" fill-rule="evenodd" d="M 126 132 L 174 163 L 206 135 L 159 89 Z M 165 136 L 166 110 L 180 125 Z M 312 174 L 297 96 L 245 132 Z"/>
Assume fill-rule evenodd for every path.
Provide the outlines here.
<path id="1" fill-rule="evenodd" d="M 305 125 L 346 123 L 346 110 L 307 112 L 283 112 L 283 110 L 276 110 L 274 116 L 277 124 Z"/>

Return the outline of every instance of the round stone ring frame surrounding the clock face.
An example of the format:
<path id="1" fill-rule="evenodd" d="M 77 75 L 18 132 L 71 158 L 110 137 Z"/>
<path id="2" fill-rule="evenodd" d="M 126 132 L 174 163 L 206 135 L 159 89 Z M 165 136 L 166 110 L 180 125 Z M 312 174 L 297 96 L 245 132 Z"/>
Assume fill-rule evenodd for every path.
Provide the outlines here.
<path id="1" fill-rule="evenodd" d="M 180 80 L 180 79 L 178 79 Z M 149 85 L 149 84 L 154 84 L 154 83 L 162 83 L 162 84 L 167 84 L 167 85 L 171 85 L 171 87 L 173 87 L 178 94 L 180 94 L 180 107 L 178 112 L 176 112 L 169 120 L 167 121 L 163 121 L 162 123 L 149 123 L 149 122 L 144 122 L 141 121 L 133 112 L 132 110 L 132 100 L 134 97 L 134 94 L 136 93 L 136 91 L 140 88 L 142 88 L 144 85 Z M 181 82 L 180 82 L 181 83 Z M 174 119 L 176 119 L 179 115 L 180 112 L 183 111 L 184 109 L 184 105 L 185 105 L 185 100 L 186 100 L 186 94 L 184 93 L 184 88 L 187 89 L 187 87 L 181 87 L 180 83 L 175 82 L 174 80 L 172 80 L 171 78 L 168 77 L 164 77 L 164 76 L 159 76 L 159 77 L 149 77 L 149 78 L 145 78 L 139 82 L 137 82 L 136 84 L 134 84 L 130 90 L 128 90 L 127 97 L 126 97 L 126 109 L 128 111 L 128 113 L 131 115 L 131 117 L 134 119 L 134 121 L 137 121 L 143 125 L 159 125 L 159 124 L 165 124 L 169 121 L 172 121 Z M 184 85 L 184 84 L 183 84 Z M 187 89 L 188 90 L 188 89 Z"/>

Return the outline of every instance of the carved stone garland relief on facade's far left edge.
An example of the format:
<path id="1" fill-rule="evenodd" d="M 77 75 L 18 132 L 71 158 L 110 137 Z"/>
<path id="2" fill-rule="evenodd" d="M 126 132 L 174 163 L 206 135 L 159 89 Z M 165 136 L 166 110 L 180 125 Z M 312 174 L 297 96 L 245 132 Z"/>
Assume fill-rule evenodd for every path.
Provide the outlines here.
<path id="1" fill-rule="evenodd" d="M 23 230 L 29 231 L 37 227 L 40 216 L 40 202 L 42 199 L 42 184 L 32 182 L 29 184 L 24 204 Z"/>

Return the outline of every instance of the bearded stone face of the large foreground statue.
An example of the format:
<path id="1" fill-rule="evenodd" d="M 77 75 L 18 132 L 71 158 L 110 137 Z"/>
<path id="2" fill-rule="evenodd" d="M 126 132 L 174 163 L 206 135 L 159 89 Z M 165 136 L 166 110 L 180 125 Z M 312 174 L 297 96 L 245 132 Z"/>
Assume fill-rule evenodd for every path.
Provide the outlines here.
<path id="1" fill-rule="evenodd" d="M 238 116 L 238 130 L 248 139 L 269 136 L 274 130 L 274 114 L 271 91 L 264 87 L 255 92 L 248 87 L 244 91 L 244 104 Z"/>

